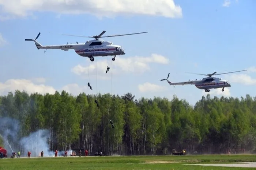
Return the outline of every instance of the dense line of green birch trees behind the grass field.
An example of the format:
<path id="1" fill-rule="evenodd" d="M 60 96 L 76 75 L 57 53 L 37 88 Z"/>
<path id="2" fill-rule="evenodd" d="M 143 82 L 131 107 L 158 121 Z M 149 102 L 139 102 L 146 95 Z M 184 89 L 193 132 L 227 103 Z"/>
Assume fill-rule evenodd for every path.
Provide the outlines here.
<path id="1" fill-rule="evenodd" d="M 87 149 L 104 155 L 253 152 L 256 97 L 202 97 L 194 107 L 176 96 L 134 100 L 98 94 L 72 96 L 9 92 L 0 97 L 0 119 L 19 121 L 19 138 L 49 130 L 50 150 Z M 99 107 L 94 102 L 97 98 Z M 114 129 L 109 124 L 114 123 Z"/>

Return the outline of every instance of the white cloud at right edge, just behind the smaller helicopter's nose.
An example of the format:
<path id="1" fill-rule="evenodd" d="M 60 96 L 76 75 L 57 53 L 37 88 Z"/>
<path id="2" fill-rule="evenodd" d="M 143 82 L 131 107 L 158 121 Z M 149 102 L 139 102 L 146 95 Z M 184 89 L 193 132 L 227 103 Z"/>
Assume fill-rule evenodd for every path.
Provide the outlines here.
<path id="1" fill-rule="evenodd" d="M 230 83 L 240 83 L 247 86 L 256 84 L 256 79 L 253 79 L 251 76 L 247 74 L 233 74 L 228 77 Z"/>

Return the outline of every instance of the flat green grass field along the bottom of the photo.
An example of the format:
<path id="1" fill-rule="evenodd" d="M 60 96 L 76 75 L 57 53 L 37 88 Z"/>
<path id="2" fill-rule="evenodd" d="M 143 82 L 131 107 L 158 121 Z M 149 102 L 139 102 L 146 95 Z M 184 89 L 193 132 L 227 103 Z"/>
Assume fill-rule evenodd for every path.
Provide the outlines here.
<path id="1" fill-rule="evenodd" d="M 116 156 L 116 157 L 57 157 L 4 158 L 0 169 L 109 169 L 109 170 L 256 170 L 256 168 L 184 165 L 191 163 L 256 162 L 256 155 L 185 155 L 185 156 Z"/>

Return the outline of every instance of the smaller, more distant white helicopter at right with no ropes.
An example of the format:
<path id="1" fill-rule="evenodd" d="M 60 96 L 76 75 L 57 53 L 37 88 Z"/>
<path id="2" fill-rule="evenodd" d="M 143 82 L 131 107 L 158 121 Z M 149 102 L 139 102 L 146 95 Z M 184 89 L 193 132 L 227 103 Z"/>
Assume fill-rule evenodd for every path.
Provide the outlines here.
<path id="1" fill-rule="evenodd" d="M 234 72 L 241 72 L 241 71 L 247 71 L 247 70 L 240 70 L 240 71 L 233 71 L 233 72 L 226 72 L 226 73 L 221 73 L 221 74 L 230 74 Z M 197 75 L 205 75 L 208 76 L 206 78 L 203 78 L 202 80 L 189 80 L 188 82 L 178 82 L 178 83 L 172 83 L 168 80 L 170 73 L 168 74 L 166 79 L 161 79 L 160 81 L 166 80 L 170 85 L 184 85 L 184 84 L 194 84 L 197 88 L 199 89 L 204 89 L 205 92 L 210 92 L 211 88 L 222 88 L 221 91 L 224 91 L 225 87 L 231 87 L 230 83 L 227 80 L 222 80 L 221 78 L 217 77 L 212 77 L 213 75 L 221 75 L 221 74 L 216 74 L 217 72 L 215 71 L 212 74 L 197 74 Z M 192 73 L 196 74 L 196 73 Z"/>

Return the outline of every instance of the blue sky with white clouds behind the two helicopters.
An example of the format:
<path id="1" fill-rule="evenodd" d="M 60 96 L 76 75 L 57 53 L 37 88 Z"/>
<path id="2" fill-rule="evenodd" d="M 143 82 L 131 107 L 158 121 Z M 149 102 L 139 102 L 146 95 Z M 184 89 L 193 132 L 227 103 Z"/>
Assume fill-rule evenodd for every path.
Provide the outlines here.
<path id="1" fill-rule="evenodd" d="M 256 1 L 254 0 L 0 0 L 0 95 L 15 90 L 72 95 L 131 92 L 136 99 L 159 96 L 186 99 L 194 105 L 208 93 L 194 85 L 171 82 L 219 75 L 231 87 L 211 89 L 226 97 L 256 96 Z M 81 57 L 74 50 L 38 50 L 42 45 L 84 43 L 102 38 L 124 48 L 125 55 Z M 107 66 L 110 71 L 106 74 Z M 87 86 L 90 82 L 93 90 Z"/>

